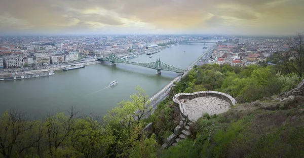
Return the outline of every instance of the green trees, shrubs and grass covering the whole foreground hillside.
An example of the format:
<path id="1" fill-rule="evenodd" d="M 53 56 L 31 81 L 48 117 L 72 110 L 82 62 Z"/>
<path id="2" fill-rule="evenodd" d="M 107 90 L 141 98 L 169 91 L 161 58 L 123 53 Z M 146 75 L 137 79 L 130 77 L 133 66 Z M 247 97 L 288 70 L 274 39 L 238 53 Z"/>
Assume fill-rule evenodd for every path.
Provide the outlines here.
<path id="1" fill-rule="evenodd" d="M 151 108 L 140 87 L 103 117 L 71 107 L 37 120 L 12 109 L 0 117 L 0 157 L 304 157 L 304 97 L 276 99 L 302 80 L 303 54 L 276 55 L 275 66 L 196 66 L 147 118 Z M 161 150 L 180 121 L 172 97 L 208 90 L 230 94 L 238 104 L 203 114 L 191 125 L 191 138 Z M 149 123 L 153 133 L 143 130 Z"/>

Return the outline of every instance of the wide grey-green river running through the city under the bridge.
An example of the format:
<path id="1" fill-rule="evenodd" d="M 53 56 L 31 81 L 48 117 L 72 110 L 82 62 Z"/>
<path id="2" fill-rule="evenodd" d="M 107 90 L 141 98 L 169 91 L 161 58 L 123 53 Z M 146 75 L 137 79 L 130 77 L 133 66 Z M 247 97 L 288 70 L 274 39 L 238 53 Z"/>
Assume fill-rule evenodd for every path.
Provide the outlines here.
<path id="1" fill-rule="evenodd" d="M 185 69 L 213 45 L 182 44 L 161 49 L 153 54 L 153 58 L 143 54 L 131 61 L 154 62 L 160 57 L 169 65 Z M 205 46 L 208 49 L 202 49 Z M 0 113 L 16 108 L 40 117 L 47 113 L 66 113 L 73 105 L 83 113 L 104 115 L 117 103 L 135 94 L 137 85 L 152 96 L 178 75 L 169 71 L 162 71 L 161 75 L 155 73 L 156 70 L 145 67 L 105 62 L 81 69 L 55 71 L 53 76 L 0 82 Z M 114 80 L 118 85 L 108 87 Z"/>

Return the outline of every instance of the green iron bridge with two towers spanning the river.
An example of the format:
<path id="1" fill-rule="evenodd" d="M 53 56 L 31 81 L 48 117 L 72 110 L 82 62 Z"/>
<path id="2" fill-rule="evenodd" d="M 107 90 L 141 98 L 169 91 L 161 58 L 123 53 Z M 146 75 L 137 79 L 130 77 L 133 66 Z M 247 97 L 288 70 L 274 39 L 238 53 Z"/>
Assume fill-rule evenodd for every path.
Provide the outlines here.
<path id="1" fill-rule="evenodd" d="M 124 60 L 124 59 L 116 57 L 114 54 L 111 54 L 110 56 L 104 57 L 104 58 L 98 57 L 97 59 L 102 60 L 102 61 L 110 61 L 111 64 L 124 63 L 124 64 L 131 64 L 131 65 L 137 65 L 137 66 L 155 69 L 155 70 L 157 70 L 156 74 L 161 73 L 161 70 L 173 71 L 173 72 L 177 72 L 177 73 L 186 72 L 186 70 L 176 68 L 176 67 L 168 65 L 164 62 L 161 62 L 160 58 L 157 59 L 156 62 L 150 62 L 150 63 L 139 63 L 139 62 L 132 62 L 132 61 Z"/>

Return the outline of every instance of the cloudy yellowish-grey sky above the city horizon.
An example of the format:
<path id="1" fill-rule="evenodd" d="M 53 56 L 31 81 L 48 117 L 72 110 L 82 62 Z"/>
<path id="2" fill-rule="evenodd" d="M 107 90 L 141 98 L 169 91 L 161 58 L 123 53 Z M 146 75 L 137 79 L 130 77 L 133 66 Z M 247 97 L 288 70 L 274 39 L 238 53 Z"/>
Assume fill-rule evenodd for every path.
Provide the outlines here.
<path id="1" fill-rule="evenodd" d="M 1 34 L 295 34 L 304 0 L 0 0 Z"/>

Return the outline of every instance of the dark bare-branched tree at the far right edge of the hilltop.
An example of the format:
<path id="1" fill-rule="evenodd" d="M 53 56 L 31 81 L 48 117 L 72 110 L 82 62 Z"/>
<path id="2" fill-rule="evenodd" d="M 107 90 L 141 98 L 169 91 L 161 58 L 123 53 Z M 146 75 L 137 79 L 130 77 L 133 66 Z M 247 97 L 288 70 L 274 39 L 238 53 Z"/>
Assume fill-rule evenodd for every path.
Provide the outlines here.
<path id="1" fill-rule="evenodd" d="M 288 73 L 296 72 L 300 77 L 304 71 L 304 34 L 296 33 L 287 42 L 290 51 L 281 54 L 281 62 Z"/>

